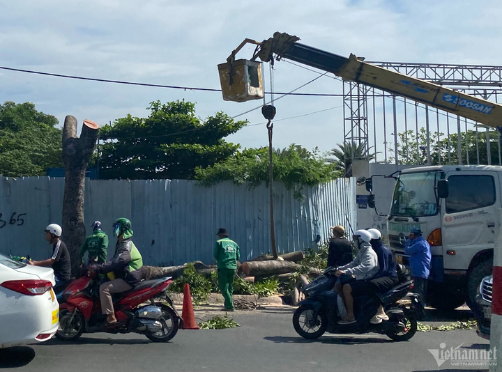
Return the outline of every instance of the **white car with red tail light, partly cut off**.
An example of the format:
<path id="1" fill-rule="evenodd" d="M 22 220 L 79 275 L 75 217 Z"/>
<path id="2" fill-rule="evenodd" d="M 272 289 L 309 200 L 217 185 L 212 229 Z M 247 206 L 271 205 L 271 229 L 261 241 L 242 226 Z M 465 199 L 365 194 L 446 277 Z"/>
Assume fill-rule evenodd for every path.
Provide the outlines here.
<path id="1" fill-rule="evenodd" d="M 54 271 L 0 254 L 0 349 L 47 341 L 59 327 Z"/>

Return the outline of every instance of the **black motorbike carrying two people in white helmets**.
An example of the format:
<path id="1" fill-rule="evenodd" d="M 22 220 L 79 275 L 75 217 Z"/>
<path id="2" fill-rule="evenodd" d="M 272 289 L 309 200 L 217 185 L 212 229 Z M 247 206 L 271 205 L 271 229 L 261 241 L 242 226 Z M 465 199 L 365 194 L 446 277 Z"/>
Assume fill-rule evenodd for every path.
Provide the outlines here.
<path id="1" fill-rule="evenodd" d="M 418 295 L 409 293 L 413 284 L 412 280 L 397 284 L 387 293 L 375 295 L 354 296 L 354 315 L 356 323 L 339 325 L 337 301 L 338 293 L 333 290 L 337 277 L 335 269 L 329 268 L 316 280 L 303 288 L 305 300 L 299 303 L 293 316 L 293 326 L 300 336 L 305 339 L 317 339 L 324 332 L 332 334 L 385 334 L 394 341 L 408 341 L 417 332 L 417 316 L 423 312 L 423 307 L 418 301 Z M 406 295 L 411 299 L 408 309 L 397 304 Z M 389 320 L 379 324 L 370 323 L 371 318 L 377 313 L 379 304 L 383 304 Z"/>

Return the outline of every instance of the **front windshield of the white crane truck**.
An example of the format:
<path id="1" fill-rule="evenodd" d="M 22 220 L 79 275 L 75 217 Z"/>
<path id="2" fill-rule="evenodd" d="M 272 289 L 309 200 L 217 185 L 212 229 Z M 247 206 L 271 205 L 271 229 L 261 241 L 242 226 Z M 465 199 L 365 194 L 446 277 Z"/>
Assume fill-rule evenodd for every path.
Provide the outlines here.
<path id="1" fill-rule="evenodd" d="M 437 213 L 434 179 L 436 171 L 402 173 L 397 180 L 390 214 L 425 217 Z"/>

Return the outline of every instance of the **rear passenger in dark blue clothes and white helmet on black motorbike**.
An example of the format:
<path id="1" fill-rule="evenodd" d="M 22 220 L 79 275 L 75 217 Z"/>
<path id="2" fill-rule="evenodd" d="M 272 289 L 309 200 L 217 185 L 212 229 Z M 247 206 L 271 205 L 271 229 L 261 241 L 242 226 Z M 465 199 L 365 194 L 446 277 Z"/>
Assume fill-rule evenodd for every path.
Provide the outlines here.
<path id="1" fill-rule="evenodd" d="M 370 244 L 373 250 L 377 254 L 379 261 L 379 271 L 370 280 L 370 283 L 374 286 L 375 294 L 386 293 L 391 288 L 397 286 L 399 280 L 397 279 L 396 264 L 394 261 L 394 256 L 390 249 L 383 244 L 381 240 L 381 232 L 377 228 L 369 228 L 368 233 L 372 235 L 372 240 Z M 388 320 L 388 316 L 383 310 L 383 305 L 379 305 L 379 309 L 375 316 L 370 320 L 372 324 L 379 324 L 382 320 Z"/>

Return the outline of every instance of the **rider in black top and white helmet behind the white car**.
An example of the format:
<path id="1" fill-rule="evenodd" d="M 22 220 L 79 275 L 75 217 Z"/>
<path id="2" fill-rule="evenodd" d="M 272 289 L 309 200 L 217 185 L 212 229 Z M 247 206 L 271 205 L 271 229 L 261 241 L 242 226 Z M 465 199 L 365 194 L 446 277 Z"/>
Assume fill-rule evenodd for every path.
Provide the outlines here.
<path id="1" fill-rule="evenodd" d="M 45 240 L 52 245 L 51 258 L 43 261 L 28 261 L 30 265 L 45 266 L 54 270 L 54 277 L 56 278 L 56 285 L 62 286 L 71 277 L 71 261 L 70 254 L 66 244 L 60 239 L 63 229 L 57 224 L 50 224 L 44 230 Z"/>

